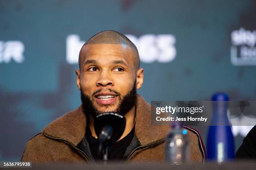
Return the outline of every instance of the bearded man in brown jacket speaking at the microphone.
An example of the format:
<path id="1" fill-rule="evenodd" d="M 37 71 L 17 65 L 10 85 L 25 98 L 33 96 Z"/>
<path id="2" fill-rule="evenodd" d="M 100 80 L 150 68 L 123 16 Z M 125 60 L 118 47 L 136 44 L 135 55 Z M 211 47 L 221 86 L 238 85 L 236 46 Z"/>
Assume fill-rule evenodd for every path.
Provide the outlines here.
<path id="1" fill-rule="evenodd" d="M 94 118 L 102 112 L 125 116 L 123 135 L 109 149 L 109 160 L 164 160 L 169 126 L 151 125 L 151 106 L 136 93 L 143 68 L 136 46 L 124 35 L 103 31 L 91 37 L 79 53 L 76 70 L 82 105 L 51 122 L 28 141 L 23 161 L 99 160 Z M 205 151 L 197 131 L 188 129 L 191 159 L 203 162 Z"/>

